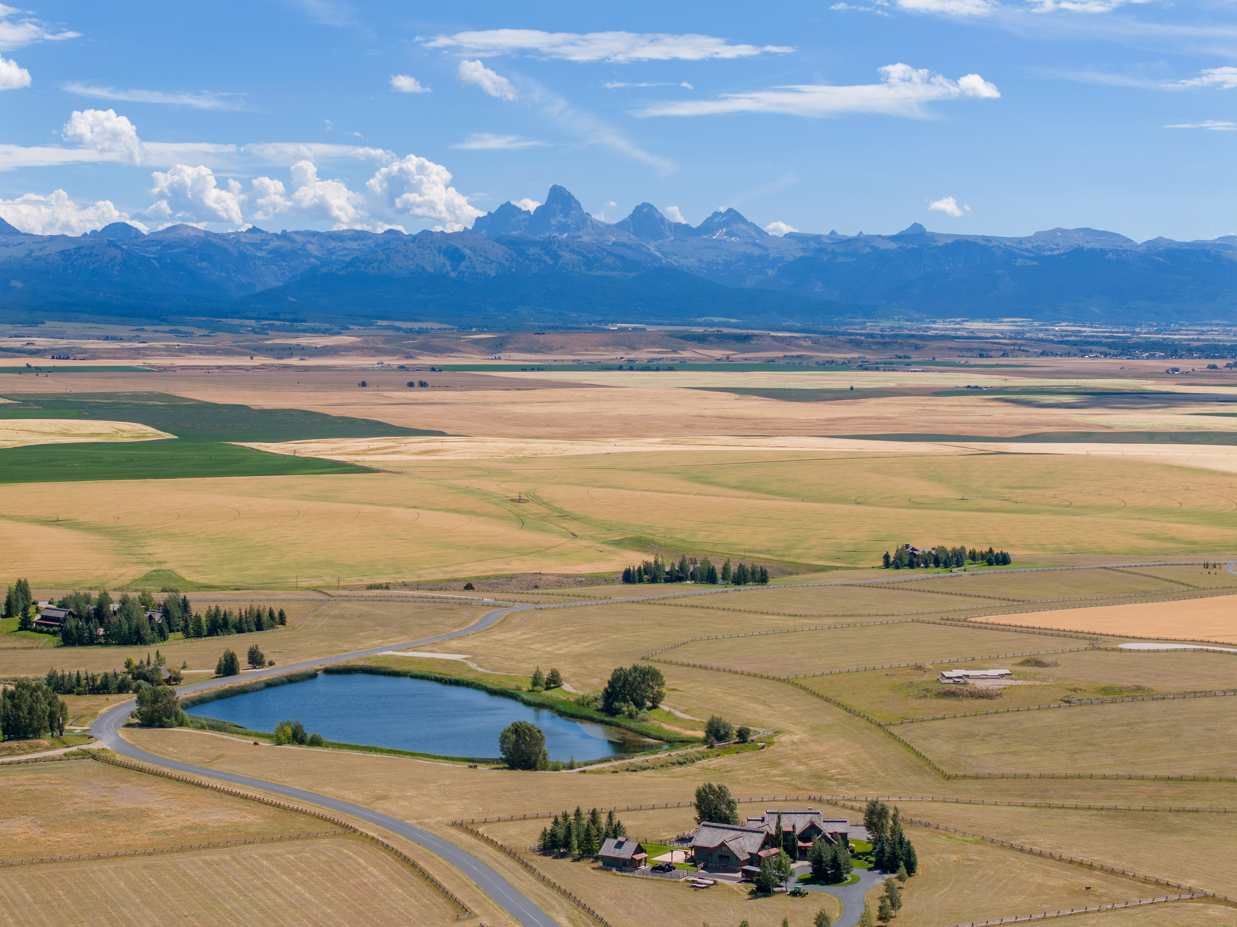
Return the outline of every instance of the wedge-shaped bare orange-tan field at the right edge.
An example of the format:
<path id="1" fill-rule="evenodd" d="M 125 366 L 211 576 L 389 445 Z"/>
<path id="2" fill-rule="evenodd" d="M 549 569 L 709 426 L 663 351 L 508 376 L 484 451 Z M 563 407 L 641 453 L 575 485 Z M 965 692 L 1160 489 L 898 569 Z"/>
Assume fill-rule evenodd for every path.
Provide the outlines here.
<path id="1" fill-rule="evenodd" d="M 1101 606 L 1097 608 L 1060 609 L 1034 614 L 987 616 L 972 620 L 987 624 L 1023 624 L 1039 628 L 1061 628 L 1094 634 L 1173 640 L 1215 640 L 1237 644 L 1237 617 L 1233 599 L 1227 596 L 1185 599 L 1180 602 Z"/>

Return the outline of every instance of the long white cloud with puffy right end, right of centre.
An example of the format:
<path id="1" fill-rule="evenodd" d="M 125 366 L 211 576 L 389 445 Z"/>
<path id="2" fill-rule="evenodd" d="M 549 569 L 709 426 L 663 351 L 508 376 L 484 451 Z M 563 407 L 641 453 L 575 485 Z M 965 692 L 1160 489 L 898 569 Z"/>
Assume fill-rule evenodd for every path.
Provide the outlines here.
<path id="1" fill-rule="evenodd" d="M 887 116 L 922 117 L 923 104 L 960 96 L 996 99 L 995 84 L 978 74 L 950 80 L 909 64 L 880 68 L 880 84 L 835 87 L 793 84 L 769 90 L 722 94 L 711 100 L 662 103 L 636 110 L 636 116 L 703 116 L 729 112 L 781 112 L 794 116 L 837 116 L 844 112 L 878 112 Z"/>

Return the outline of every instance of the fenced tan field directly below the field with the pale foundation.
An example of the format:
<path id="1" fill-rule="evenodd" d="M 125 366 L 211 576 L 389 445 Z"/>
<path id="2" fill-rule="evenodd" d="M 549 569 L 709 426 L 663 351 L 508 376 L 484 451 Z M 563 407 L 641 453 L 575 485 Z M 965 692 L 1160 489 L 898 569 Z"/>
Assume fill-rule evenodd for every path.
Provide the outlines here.
<path id="1" fill-rule="evenodd" d="M 899 727 L 950 772 L 1232 776 L 1237 696 L 990 714 Z"/>

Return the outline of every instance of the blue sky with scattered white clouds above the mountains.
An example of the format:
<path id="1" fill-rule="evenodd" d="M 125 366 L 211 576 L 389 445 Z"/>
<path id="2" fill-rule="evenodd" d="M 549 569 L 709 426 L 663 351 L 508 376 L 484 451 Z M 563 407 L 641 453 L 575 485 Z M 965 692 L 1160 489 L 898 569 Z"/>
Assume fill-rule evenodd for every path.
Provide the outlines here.
<path id="1" fill-rule="evenodd" d="M 1237 2 L 0 4 L 0 215 L 1237 232 Z"/>

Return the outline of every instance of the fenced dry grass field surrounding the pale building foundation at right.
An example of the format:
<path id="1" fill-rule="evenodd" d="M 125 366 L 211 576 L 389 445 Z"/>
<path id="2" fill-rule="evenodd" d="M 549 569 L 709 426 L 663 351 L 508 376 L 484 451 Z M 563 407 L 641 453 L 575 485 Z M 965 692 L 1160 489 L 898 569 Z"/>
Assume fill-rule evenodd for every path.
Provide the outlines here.
<path id="1" fill-rule="evenodd" d="M 934 662 L 931 670 L 914 666 L 872 670 L 820 676 L 804 680 L 804 684 L 846 705 L 861 708 L 880 721 L 1059 705 L 1063 700 L 1237 688 L 1237 660 L 1225 654 L 1209 654 L 1201 650 L 1086 650 L 1075 654 L 1049 654 L 1043 659 L 1058 665 L 1021 666 L 1017 659 L 978 660 L 966 664 Z M 1014 681 L 1039 685 L 1007 686 L 997 690 L 1001 695 L 992 700 L 945 695 L 934 697 L 938 692 L 960 691 L 959 687 L 935 682 L 938 671 L 950 669 L 1008 669 L 1013 670 Z M 962 691 L 970 691 L 970 687 Z"/>

